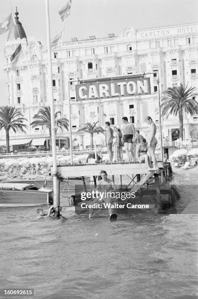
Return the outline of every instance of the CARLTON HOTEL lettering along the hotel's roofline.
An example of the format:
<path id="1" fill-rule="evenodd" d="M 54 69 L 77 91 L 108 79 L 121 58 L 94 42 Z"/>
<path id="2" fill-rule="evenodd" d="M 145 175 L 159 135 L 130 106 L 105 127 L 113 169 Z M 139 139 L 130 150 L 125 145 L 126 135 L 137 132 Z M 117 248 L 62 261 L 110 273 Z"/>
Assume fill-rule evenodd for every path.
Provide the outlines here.
<path id="1" fill-rule="evenodd" d="M 190 27 L 177 27 L 171 29 L 164 29 L 164 30 L 156 30 L 156 31 L 146 31 L 141 33 L 142 38 L 146 37 L 157 37 L 157 36 L 167 36 L 173 34 L 181 34 L 181 33 L 193 33 L 198 32 L 198 27 L 190 26 Z"/>

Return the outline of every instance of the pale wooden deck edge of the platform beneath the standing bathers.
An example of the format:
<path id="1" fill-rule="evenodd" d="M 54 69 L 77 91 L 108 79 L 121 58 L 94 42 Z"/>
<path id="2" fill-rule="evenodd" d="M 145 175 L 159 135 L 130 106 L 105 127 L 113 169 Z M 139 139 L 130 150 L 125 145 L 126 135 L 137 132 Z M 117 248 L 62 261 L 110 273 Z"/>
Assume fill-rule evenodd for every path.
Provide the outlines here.
<path id="1" fill-rule="evenodd" d="M 164 168 L 163 161 L 157 162 L 158 168 Z M 107 175 L 136 175 L 145 174 L 151 176 L 150 172 L 146 167 L 145 163 L 132 163 L 132 162 L 121 162 L 121 163 L 99 163 L 99 164 L 67 164 L 67 165 L 57 165 L 58 173 L 63 177 L 76 177 L 76 176 L 97 176 L 99 172 L 104 170 Z M 52 169 L 51 169 L 52 171 Z M 152 174 L 153 175 L 153 174 Z M 149 176 L 149 177 L 150 177 Z"/>

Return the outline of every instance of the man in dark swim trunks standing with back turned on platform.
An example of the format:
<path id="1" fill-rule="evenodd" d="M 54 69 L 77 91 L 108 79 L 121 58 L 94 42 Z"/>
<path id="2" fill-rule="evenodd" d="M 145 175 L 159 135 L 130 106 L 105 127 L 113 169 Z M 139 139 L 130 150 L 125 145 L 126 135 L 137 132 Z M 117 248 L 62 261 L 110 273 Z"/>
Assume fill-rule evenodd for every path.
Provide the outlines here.
<path id="1" fill-rule="evenodd" d="M 133 124 L 128 122 L 128 118 L 124 116 L 122 118 L 124 124 L 124 148 L 126 150 L 127 162 L 135 162 L 135 154 L 133 151 L 133 142 L 135 140 L 135 128 Z"/>

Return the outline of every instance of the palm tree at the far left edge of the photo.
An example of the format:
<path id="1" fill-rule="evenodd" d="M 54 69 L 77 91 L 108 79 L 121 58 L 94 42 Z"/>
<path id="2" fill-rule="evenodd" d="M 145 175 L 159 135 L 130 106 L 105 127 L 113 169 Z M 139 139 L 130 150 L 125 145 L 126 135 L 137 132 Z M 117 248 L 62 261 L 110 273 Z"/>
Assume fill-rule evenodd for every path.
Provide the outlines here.
<path id="1" fill-rule="evenodd" d="M 23 117 L 19 108 L 15 108 L 14 106 L 0 107 L 0 129 L 5 129 L 6 152 L 10 152 L 10 129 L 15 133 L 18 129 L 25 133 L 24 128 L 27 128 L 27 125 L 24 124 L 24 121 L 26 120 L 27 119 Z"/>

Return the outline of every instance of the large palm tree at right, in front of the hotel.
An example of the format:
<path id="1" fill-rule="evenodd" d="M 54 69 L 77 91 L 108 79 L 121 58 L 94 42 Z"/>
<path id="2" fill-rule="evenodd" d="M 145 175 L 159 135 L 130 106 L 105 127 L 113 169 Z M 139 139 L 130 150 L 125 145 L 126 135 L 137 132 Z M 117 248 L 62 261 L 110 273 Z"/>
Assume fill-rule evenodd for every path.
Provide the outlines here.
<path id="1" fill-rule="evenodd" d="M 191 116 L 198 113 L 198 103 L 193 99 L 196 87 L 187 89 L 182 83 L 179 86 L 169 87 L 162 95 L 162 116 L 179 116 L 179 137 L 183 140 L 183 112 Z"/>

